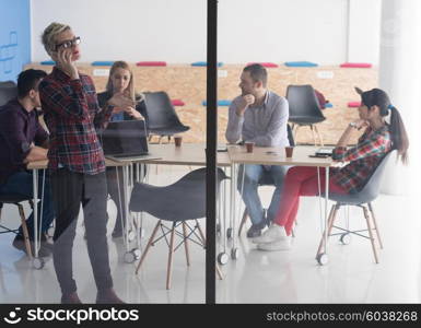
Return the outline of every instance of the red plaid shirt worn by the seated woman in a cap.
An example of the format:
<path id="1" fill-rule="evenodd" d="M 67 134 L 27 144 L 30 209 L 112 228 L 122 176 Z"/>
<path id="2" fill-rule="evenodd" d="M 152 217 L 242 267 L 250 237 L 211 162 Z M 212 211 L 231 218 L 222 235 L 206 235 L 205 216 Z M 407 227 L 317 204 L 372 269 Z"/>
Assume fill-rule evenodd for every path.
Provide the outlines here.
<path id="1" fill-rule="evenodd" d="M 388 126 L 379 130 L 369 127 L 354 148 L 338 147 L 334 150 L 334 160 L 350 162 L 340 169 L 334 171 L 334 181 L 350 194 L 360 191 L 390 149 L 391 139 Z"/>

